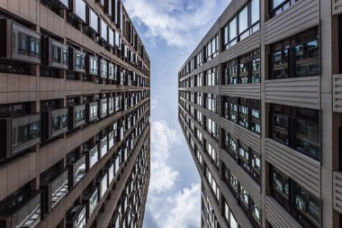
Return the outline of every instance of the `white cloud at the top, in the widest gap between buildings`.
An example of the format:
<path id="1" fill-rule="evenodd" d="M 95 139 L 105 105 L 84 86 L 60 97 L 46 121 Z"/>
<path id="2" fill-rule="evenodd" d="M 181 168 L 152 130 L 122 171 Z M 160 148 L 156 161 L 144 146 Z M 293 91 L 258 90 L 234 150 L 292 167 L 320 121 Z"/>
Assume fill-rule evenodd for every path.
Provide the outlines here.
<path id="1" fill-rule="evenodd" d="M 185 47 L 197 41 L 196 32 L 202 32 L 202 27 L 227 6 L 227 1 L 126 0 L 124 5 L 131 19 L 147 27 L 148 39 L 160 37 L 169 46 Z"/>

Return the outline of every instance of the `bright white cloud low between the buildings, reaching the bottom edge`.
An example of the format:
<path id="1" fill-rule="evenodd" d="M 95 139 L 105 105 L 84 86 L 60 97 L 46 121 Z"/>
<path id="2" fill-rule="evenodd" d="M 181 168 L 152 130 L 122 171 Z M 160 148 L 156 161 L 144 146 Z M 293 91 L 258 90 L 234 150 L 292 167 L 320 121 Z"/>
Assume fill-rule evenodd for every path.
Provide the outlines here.
<path id="1" fill-rule="evenodd" d="M 201 184 L 177 189 L 179 171 L 168 164 L 181 137 L 165 121 L 151 123 L 151 178 L 146 213 L 152 216 L 158 228 L 189 228 L 200 224 Z M 151 226 L 147 222 L 144 227 Z"/>

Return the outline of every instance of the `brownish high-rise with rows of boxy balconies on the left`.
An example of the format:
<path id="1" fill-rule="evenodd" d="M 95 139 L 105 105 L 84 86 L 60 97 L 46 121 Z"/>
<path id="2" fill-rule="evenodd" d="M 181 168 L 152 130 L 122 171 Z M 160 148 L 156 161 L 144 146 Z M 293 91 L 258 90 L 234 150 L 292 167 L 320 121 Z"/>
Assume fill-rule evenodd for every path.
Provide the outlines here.
<path id="1" fill-rule="evenodd" d="M 0 1 L 0 227 L 142 227 L 148 53 L 121 1 Z"/>

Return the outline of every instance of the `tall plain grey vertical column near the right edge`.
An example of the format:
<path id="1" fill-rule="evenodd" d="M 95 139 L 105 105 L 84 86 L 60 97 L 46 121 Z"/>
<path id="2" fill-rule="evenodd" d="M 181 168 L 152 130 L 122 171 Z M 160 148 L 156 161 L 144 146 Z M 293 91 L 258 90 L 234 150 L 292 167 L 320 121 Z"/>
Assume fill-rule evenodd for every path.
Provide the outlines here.
<path id="1" fill-rule="evenodd" d="M 339 226 L 339 214 L 333 209 L 332 172 L 338 170 L 339 114 L 332 110 L 332 75 L 338 73 L 338 17 L 331 15 L 332 1 L 320 1 L 320 152 L 321 152 L 321 225 Z"/>

